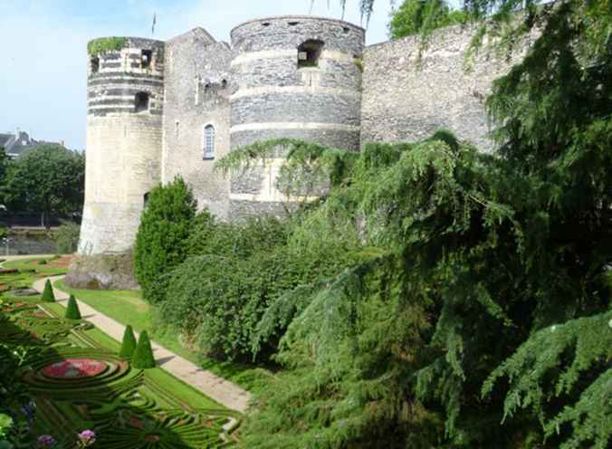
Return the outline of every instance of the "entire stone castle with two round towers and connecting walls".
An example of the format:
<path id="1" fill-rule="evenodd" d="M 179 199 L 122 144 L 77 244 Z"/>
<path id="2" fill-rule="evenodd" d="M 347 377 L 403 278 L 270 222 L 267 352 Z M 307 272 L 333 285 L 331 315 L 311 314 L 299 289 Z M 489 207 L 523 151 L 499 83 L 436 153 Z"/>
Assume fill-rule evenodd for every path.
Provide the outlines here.
<path id="1" fill-rule="evenodd" d="M 222 219 L 280 214 L 274 177 L 281 158 L 230 179 L 213 171 L 232 148 L 260 139 L 358 151 L 368 141 L 420 139 L 445 128 L 490 147 L 482 99 L 507 64 L 480 58 L 465 72 L 470 32 L 460 27 L 436 33 L 423 54 L 418 38 L 366 47 L 365 33 L 307 15 L 240 24 L 231 45 L 202 28 L 167 42 L 92 41 L 103 51 L 88 56 L 85 206 L 72 273 L 125 287 L 116 282 L 119 268 L 88 259 L 128 252 L 148 191 L 177 175 L 200 207 Z"/>

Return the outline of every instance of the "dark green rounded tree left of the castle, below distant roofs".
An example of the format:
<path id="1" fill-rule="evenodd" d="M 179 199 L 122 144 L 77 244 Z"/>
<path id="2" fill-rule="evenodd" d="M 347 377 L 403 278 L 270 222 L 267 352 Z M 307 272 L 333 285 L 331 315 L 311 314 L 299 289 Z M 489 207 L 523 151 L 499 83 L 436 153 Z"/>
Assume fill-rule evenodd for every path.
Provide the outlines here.
<path id="1" fill-rule="evenodd" d="M 54 145 L 34 148 L 14 162 L 5 191 L 9 210 L 50 213 L 81 211 L 84 199 L 85 157 Z"/>

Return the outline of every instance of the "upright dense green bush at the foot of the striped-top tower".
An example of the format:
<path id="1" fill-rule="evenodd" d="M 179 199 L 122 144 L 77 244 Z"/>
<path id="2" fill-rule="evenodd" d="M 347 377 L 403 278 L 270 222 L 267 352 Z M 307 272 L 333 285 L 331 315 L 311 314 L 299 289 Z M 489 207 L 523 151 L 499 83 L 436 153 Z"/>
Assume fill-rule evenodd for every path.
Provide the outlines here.
<path id="1" fill-rule="evenodd" d="M 186 239 L 195 215 L 196 201 L 181 177 L 149 193 L 134 247 L 136 278 L 148 301 L 163 300 L 162 274 L 185 260 Z"/>

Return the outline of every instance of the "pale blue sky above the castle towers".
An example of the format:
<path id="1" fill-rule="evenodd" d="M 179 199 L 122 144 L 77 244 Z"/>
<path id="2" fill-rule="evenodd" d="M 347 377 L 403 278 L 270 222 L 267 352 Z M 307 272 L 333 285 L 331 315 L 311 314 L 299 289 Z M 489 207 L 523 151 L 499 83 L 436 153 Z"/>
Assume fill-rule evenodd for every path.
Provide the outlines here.
<path id="1" fill-rule="evenodd" d="M 315 0 L 312 14 L 339 18 L 339 0 Z M 0 0 L 0 132 L 85 148 L 87 42 L 108 35 L 157 39 L 202 26 L 219 41 L 263 15 L 308 14 L 311 0 Z M 389 0 L 378 0 L 368 43 L 387 40 Z M 358 0 L 346 20 L 359 24 Z"/>

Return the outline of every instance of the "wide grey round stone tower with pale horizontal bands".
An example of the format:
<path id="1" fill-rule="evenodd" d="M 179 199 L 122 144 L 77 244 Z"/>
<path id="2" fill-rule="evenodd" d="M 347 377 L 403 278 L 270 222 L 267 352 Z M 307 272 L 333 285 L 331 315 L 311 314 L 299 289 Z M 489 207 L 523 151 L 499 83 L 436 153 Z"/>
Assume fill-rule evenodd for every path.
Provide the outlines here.
<path id="1" fill-rule="evenodd" d="M 359 150 L 364 42 L 363 28 L 311 15 L 269 17 L 235 27 L 232 148 L 292 138 Z M 289 198 L 274 186 L 282 150 L 278 156 L 233 177 L 232 218 L 282 215 Z"/>

